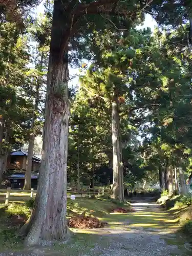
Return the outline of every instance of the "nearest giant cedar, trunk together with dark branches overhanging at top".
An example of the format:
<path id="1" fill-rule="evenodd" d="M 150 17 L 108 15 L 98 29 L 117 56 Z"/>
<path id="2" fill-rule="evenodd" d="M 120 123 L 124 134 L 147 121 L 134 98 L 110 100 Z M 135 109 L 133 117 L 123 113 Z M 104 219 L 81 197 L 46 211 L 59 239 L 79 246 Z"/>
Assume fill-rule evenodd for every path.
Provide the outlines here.
<path id="1" fill-rule="evenodd" d="M 24 228 L 28 233 L 28 245 L 37 244 L 41 240 L 65 240 L 69 233 L 66 204 L 70 42 L 72 44 L 77 36 L 82 38 L 91 33 L 93 28 L 100 29 L 101 32 L 108 24 L 115 24 L 115 27 L 121 24 L 119 28 L 122 28 L 127 22 L 132 23 L 134 19 L 142 17 L 144 9 L 151 2 L 54 1 L 42 159 L 34 209 Z M 101 15 L 104 15 L 105 22 Z M 97 23 L 98 17 L 102 23 Z M 80 41 L 81 39 L 79 46 Z"/>

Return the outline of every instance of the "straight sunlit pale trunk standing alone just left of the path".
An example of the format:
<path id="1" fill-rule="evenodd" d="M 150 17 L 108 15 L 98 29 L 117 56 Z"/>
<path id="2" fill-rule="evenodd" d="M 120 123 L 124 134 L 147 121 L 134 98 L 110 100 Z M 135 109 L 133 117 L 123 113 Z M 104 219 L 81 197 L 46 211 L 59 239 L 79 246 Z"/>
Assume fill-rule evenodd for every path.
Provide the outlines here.
<path id="1" fill-rule="evenodd" d="M 123 191 L 123 165 L 122 165 L 122 147 L 120 140 L 120 125 L 118 100 L 114 97 L 112 103 L 112 141 L 113 141 L 113 198 L 120 202 L 124 201 Z"/>

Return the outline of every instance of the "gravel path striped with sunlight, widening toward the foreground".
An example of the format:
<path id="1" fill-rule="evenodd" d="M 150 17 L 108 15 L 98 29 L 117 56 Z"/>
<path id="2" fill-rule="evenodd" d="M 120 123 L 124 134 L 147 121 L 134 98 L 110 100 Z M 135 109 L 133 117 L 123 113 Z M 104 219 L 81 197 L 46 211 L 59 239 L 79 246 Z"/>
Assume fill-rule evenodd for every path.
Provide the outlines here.
<path id="1" fill-rule="evenodd" d="M 65 249 L 33 248 L 0 256 L 179 256 L 192 255 L 190 245 L 175 233 L 174 221 L 155 203 L 132 204 L 135 212 L 113 215 L 110 227 L 92 230 Z M 116 220 L 117 219 L 117 220 Z M 116 220 L 116 221 L 115 221 Z M 86 244 L 89 239 L 93 241 Z M 89 240 L 90 241 L 90 240 Z M 83 243 L 82 243 L 83 242 Z"/>

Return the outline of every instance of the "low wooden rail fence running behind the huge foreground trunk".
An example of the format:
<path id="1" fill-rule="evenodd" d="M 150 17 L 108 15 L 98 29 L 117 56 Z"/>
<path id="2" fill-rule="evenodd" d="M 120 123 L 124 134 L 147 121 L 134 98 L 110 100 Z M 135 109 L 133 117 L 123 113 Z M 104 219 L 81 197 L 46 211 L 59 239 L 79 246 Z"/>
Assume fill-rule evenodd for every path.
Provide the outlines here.
<path id="1" fill-rule="evenodd" d="M 75 197 L 91 197 L 91 196 L 103 196 L 104 193 L 108 192 L 109 189 L 105 189 L 104 187 L 99 189 L 93 188 L 81 188 L 79 191 L 74 190 L 72 188 L 67 189 L 67 198 L 71 198 L 71 195 L 75 195 Z M 31 188 L 31 190 L 22 190 L 22 189 L 11 189 L 8 187 L 7 189 L 0 189 L 0 202 L 8 205 L 9 202 L 20 202 L 27 201 L 30 198 L 35 198 L 37 191 Z"/>

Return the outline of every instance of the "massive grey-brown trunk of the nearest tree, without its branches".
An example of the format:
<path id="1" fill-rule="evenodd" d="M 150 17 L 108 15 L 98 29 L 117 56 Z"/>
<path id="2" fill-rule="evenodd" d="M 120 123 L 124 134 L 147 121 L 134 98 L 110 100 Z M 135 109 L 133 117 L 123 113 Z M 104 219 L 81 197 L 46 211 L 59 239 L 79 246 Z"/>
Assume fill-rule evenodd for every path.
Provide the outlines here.
<path id="1" fill-rule="evenodd" d="M 68 55 L 63 52 L 67 13 L 61 0 L 54 1 L 47 81 L 46 118 L 37 195 L 29 221 L 28 246 L 41 241 L 63 241 L 67 227 L 67 155 L 68 155 Z M 67 39 L 66 39 L 67 40 Z"/>

